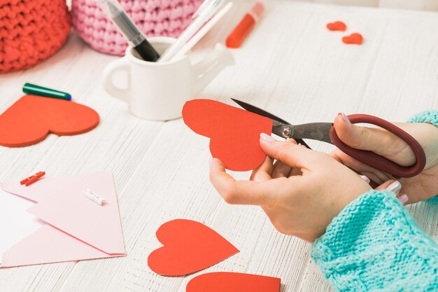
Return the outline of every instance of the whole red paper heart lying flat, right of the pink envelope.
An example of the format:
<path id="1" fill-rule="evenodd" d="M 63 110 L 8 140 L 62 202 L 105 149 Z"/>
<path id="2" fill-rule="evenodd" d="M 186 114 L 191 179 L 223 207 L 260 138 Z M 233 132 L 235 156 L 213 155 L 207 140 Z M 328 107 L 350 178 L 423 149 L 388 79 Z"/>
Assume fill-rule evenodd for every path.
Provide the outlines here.
<path id="1" fill-rule="evenodd" d="M 157 239 L 163 246 L 150 253 L 148 265 L 163 276 L 182 276 L 204 270 L 239 252 L 218 232 L 185 219 L 161 225 Z"/>

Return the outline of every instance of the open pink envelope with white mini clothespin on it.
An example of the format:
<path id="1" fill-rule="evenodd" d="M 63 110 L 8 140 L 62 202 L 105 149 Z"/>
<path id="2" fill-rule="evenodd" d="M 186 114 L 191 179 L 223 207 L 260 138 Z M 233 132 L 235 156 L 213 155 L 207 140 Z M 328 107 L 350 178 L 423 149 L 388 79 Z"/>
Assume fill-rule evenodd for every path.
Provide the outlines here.
<path id="1" fill-rule="evenodd" d="M 0 267 L 126 256 L 113 174 L 43 177 L 27 187 L 14 181 L 1 188 L 36 202 L 27 211 L 45 225 L 4 252 Z M 106 203 L 85 197 L 87 189 Z"/>

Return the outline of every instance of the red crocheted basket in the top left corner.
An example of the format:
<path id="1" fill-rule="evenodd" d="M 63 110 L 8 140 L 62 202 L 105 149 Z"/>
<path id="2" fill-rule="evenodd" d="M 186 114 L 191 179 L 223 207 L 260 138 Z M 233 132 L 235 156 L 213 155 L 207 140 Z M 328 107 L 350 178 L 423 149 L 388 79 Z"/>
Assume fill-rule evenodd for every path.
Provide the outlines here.
<path id="1" fill-rule="evenodd" d="M 0 73 L 32 67 L 55 54 L 70 28 L 65 0 L 0 0 Z"/>

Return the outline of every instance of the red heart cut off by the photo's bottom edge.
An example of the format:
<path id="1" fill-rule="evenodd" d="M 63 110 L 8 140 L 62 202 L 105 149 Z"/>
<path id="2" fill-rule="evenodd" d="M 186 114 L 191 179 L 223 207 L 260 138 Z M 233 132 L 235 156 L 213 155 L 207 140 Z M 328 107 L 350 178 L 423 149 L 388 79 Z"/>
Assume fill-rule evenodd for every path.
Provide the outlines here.
<path id="1" fill-rule="evenodd" d="M 186 292 L 278 292 L 281 279 L 241 274 L 235 272 L 212 272 L 191 279 Z"/>

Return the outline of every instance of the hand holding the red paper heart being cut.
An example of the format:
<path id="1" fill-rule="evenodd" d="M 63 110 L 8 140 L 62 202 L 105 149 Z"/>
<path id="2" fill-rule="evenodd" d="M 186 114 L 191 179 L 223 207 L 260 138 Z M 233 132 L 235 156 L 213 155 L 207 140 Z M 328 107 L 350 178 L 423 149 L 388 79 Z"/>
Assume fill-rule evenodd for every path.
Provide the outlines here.
<path id="1" fill-rule="evenodd" d="M 323 235 L 334 216 L 371 190 L 369 184 L 325 153 L 276 141 L 262 134 L 268 157 L 250 181 L 236 181 L 218 159 L 211 162 L 213 186 L 229 204 L 260 205 L 275 228 L 313 242 Z M 278 160 L 275 164 L 273 159 Z"/>

